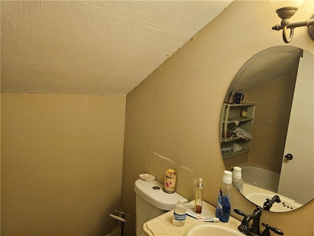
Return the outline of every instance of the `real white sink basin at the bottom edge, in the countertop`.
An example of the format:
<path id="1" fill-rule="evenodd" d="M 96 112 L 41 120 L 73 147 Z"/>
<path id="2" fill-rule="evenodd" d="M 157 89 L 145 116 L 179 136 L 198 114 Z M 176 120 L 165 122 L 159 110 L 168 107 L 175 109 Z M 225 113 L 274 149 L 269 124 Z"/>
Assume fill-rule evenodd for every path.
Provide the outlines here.
<path id="1" fill-rule="evenodd" d="M 216 223 L 205 223 L 191 227 L 184 236 L 243 236 L 239 231 L 233 230 Z"/>

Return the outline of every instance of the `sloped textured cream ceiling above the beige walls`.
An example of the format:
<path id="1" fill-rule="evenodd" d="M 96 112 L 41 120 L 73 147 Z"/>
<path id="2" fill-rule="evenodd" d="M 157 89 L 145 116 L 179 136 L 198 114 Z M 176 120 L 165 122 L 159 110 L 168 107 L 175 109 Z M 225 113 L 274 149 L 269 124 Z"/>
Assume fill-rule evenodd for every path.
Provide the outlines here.
<path id="1" fill-rule="evenodd" d="M 127 94 L 232 1 L 1 1 L 1 92 Z"/>

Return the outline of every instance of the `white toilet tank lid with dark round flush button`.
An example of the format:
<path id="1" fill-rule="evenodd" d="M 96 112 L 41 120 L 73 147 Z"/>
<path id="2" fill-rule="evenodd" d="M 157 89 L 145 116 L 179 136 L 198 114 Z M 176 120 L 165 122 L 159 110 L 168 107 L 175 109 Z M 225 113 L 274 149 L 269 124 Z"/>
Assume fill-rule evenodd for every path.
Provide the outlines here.
<path id="1" fill-rule="evenodd" d="M 159 189 L 154 189 L 153 187 L 159 187 Z M 187 203 L 187 199 L 181 196 L 179 193 L 165 193 L 162 191 L 163 185 L 158 181 L 144 181 L 142 179 L 137 179 L 134 184 L 135 193 L 144 199 L 149 204 L 153 205 L 162 210 L 173 210 L 176 203 L 178 203 L 179 198 Z"/>

